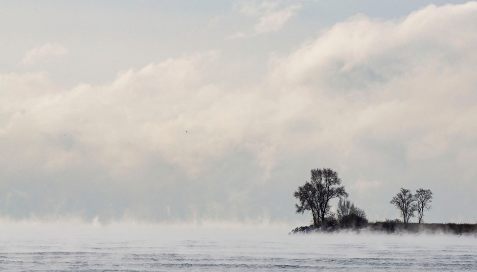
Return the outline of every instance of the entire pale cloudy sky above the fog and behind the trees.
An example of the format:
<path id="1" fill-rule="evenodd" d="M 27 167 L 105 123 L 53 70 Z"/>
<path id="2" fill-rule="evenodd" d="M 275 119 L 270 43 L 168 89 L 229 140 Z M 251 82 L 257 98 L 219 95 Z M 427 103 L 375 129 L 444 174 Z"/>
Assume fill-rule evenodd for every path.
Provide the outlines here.
<path id="1" fill-rule="evenodd" d="M 2 218 L 305 225 L 326 167 L 371 221 L 403 187 L 477 222 L 477 2 L 7 1 L 0 35 Z"/>

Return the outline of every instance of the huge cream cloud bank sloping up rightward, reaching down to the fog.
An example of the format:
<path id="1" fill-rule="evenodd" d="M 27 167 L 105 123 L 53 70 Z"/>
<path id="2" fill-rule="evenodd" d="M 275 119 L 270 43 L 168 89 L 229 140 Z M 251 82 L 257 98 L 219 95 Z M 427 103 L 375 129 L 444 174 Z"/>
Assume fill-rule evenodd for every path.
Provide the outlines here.
<path id="1" fill-rule="evenodd" d="M 259 82 L 229 75 L 251 82 L 240 86 L 220 76 L 217 51 L 71 89 L 44 73 L 2 75 L 0 207 L 19 217 L 289 219 L 309 169 L 331 167 L 365 210 L 400 187 L 430 188 L 445 221 L 455 211 L 439 201 L 475 204 L 476 14 L 468 3 L 355 16 L 270 59 Z M 395 212 L 371 209 L 382 216 L 371 219 Z"/>

